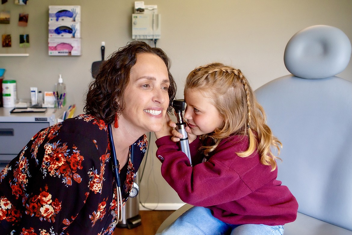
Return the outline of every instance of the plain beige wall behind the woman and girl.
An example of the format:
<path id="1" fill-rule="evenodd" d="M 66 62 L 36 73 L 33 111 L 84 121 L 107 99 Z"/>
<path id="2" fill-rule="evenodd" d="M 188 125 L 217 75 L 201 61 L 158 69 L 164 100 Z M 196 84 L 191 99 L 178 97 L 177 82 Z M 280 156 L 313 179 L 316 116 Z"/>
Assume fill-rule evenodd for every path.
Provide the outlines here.
<path id="1" fill-rule="evenodd" d="M 11 10 L 11 25 L 0 25 L 0 32 L 12 33 L 13 46 L 0 53 L 24 53 L 18 47 L 18 13 L 29 13 L 26 33 L 30 35 L 29 57 L 0 57 L 6 78 L 17 80 L 18 98 L 30 98 L 29 87 L 51 91 L 62 74 L 67 84 L 67 101 L 83 110 L 83 97 L 91 80 L 93 61 L 100 60 L 101 42 L 106 55 L 131 41 L 131 0 L 38 0 L 17 6 L 9 0 L 0 10 Z M 158 5 L 162 14 L 162 38 L 157 46 L 172 60 L 171 72 L 182 97 L 187 74 L 201 64 L 220 61 L 240 68 L 256 89 L 266 82 L 289 74 L 283 63 L 288 40 L 305 27 L 325 24 L 338 27 L 352 40 L 351 0 L 147 0 Z M 48 56 L 48 6 L 81 5 L 82 56 Z M 16 34 L 15 34 L 16 33 Z M 338 76 L 352 81 L 352 62 Z M 181 203 L 160 174 L 155 158 L 154 136 L 143 180 L 142 202 Z"/>

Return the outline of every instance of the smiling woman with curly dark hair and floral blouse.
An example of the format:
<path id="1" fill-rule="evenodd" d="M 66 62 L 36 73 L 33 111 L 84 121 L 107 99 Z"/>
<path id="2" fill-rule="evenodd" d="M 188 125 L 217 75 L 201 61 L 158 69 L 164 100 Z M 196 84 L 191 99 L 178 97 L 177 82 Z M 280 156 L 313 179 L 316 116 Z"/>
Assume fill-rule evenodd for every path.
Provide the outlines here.
<path id="1" fill-rule="evenodd" d="M 169 68 L 161 49 L 139 41 L 104 61 L 86 114 L 39 131 L 1 172 L 1 233 L 112 234 L 121 209 L 112 155 L 124 205 L 145 154 L 144 133 L 160 131 L 171 110 Z"/>

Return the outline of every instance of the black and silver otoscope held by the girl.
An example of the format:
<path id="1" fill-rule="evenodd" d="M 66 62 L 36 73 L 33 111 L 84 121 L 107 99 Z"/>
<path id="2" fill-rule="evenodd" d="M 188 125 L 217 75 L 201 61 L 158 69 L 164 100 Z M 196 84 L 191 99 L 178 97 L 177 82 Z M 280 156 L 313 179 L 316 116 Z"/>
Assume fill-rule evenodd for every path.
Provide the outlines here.
<path id="1" fill-rule="evenodd" d="M 175 109 L 177 123 L 176 123 L 176 130 L 183 135 L 183 138 L 180 138 L 180 148 L 183 153 L 185 153 L 189 159 L 189 163 L 192 166 L 191 161 L 191 153 L 189 151 L 189 142 L 188 142 L 188 135 L 186 131 L 186 122 L 183 120 L 182 111 L 184 110 L 184 105 L 186 102 L 184 99 L 173 100 L 171 102 L 171 106 Z"/>

